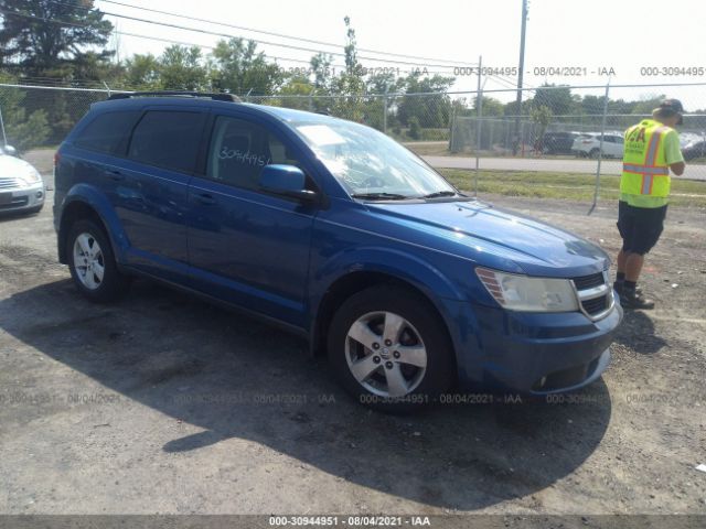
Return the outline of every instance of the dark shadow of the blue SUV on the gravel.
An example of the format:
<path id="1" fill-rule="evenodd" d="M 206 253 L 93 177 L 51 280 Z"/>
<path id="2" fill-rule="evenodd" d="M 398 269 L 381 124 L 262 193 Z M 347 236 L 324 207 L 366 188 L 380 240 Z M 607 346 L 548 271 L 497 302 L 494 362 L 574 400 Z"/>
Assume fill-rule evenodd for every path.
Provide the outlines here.
<path id="1" fill-rule="evenodd" d="M 300 339 L 147 282 L 110 306 L 84 301 L 68 280 L 50 282 L 1 300 L 0 326 L 126 398 L 204 429 L 146 451 L 239 438 L 450 509 L 532 495 L 571 474 L 611 414 L 602 381 L 564 403 L 494 396 L 493 404 L 416 415 L 372 412 L 330 380 L 325 361 L 309 358 Z"/>

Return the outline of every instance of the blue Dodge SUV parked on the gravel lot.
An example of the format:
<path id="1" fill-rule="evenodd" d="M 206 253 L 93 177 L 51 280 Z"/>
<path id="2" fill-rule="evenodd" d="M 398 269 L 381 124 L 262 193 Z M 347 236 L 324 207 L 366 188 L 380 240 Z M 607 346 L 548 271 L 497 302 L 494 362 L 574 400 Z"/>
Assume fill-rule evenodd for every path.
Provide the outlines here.
<path id="1" fill-rule="evenodd" d="M 389 410 L 582 387 L 622 317 L 595 245 L 464 195 L 372 128 L 224 94 L 95 104 L 56 153 L 54 223 L 89 300 L 141 276 L 237 307 Z"/>

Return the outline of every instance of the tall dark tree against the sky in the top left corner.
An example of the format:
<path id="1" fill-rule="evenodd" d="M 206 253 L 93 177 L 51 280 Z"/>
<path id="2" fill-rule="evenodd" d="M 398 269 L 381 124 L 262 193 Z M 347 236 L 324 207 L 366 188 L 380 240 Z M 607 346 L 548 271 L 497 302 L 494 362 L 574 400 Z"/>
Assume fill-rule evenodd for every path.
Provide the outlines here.
<path id="1" fill-rule="evenodd" d="M 3 0 L 0 67 L 19 76 L 71 78 L 76 68 L 105 63 L 113 24 L 92 0 Z M 84 68 L 85 69 L 85 68 Z"/>

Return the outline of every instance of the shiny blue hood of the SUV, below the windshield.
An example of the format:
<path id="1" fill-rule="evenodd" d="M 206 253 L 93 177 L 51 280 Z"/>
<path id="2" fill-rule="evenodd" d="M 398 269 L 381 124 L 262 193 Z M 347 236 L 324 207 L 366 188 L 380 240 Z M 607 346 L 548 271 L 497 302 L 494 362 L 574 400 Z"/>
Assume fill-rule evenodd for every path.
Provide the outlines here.
<path id="1" fill-rule="evenodd" d="M 443 250 L 454 248 L 479 264 L 506 271 L 573 277 L 601 271 L 610 262 L 601 248 L 581 237 L 482 202 L 368 206 L 377 216 L 435 236 Z"/>

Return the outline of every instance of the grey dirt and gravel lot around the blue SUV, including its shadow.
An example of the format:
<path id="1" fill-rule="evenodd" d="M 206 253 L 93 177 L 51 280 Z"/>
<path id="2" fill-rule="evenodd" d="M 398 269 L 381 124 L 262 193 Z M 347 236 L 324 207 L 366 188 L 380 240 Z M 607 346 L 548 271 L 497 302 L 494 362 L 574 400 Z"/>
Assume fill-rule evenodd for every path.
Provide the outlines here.
<path id="1" fill-rule="evenodd" d="M 50 204 L 0 219 L 0 514 L 706 514 L 706 215 L 674 208 L 602 380 L 388 417 L 290 335 L 148 282 L 109 305 Z M 616 207 L 492 199 L 618 249 Z"/>

